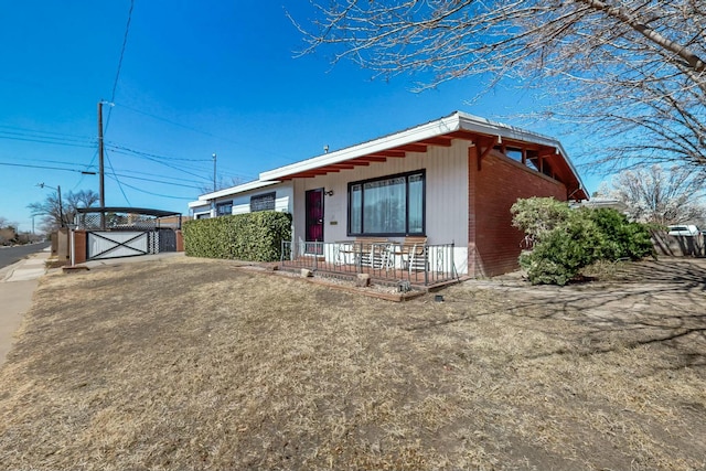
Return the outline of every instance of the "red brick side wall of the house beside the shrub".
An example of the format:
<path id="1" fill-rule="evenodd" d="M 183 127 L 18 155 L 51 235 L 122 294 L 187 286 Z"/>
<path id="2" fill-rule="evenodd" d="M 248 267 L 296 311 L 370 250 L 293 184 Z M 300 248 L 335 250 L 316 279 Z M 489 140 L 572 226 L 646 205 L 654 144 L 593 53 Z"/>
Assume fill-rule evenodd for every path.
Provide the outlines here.
<path id="1" fill-rule="evenodd" d="M 495 276 L 518 268 L 524 234 L 512 226 L 510 207 L 520 197 L 554 196 L 566 201 L 559 183 L 520 162 L 491 154 L 478 165 L 478 148 L 469 148 L 469 275 Z"/>

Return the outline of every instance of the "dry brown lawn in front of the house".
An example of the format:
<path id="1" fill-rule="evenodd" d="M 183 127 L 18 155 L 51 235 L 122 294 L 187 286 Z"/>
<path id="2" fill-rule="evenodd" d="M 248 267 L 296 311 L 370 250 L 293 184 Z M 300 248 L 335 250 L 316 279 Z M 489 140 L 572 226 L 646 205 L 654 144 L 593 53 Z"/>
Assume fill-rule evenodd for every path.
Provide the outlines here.
<path id="1" fill-rule="evenodd" d="M 406 303 L 220 260 L 45 277 L 3 469 L 706 467 L 706 264 Z"/>

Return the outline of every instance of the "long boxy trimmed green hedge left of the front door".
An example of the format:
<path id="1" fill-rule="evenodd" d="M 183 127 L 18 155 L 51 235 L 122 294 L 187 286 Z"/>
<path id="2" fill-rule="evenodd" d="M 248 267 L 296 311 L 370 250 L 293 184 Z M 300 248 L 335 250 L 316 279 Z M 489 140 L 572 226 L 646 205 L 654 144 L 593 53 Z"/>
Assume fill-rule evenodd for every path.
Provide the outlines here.
<path id="1" fill-rule="evenodd" d="M 190 257 L 277 261 L 281 242 L 291 240 L 291 215 L 261 211 L 189 221 L 183 235 Z"/>

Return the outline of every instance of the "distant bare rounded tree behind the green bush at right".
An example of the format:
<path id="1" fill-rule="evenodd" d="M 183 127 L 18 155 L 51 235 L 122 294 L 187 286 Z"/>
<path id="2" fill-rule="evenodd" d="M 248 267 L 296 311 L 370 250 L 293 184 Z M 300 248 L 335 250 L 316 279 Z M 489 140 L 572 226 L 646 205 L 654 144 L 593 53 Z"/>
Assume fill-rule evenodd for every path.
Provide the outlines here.
<path id="1" fill-rule="evenodd" d="M 599 194 L 622 201 L 629 216 L 642 223 L 703 224 L 706 216 L 703 180 L 685 168 L 625 170 L 602 185 Z"/>

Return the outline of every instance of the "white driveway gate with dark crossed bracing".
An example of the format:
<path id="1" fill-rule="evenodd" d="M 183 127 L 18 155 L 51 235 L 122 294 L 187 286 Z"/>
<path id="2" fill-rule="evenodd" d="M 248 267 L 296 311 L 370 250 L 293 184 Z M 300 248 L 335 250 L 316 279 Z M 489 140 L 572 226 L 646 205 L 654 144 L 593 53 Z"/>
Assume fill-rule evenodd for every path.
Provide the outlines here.
<path id="1" fill-rule="evenodd" d="M 153 231 L 94 232 L 87 234 L 89 260 L 135 257 L 159 251 L 159 240 Z M 154 244 L 157 242 L 157 244 Z"/>

